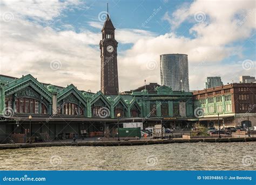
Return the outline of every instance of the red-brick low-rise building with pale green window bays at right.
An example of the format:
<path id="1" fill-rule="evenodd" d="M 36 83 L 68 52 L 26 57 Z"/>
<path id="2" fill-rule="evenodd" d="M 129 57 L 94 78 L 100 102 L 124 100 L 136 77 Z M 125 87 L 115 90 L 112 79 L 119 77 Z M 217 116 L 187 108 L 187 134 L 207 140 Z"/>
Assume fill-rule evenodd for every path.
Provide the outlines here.
<path id="1" fill-rule="evenodd" d="M 194 113 L 201 124 L 256 126 L 256 84 L 233 83 L 194 91 Z M 219 116 L 218 116 L 219 114 Z"/>

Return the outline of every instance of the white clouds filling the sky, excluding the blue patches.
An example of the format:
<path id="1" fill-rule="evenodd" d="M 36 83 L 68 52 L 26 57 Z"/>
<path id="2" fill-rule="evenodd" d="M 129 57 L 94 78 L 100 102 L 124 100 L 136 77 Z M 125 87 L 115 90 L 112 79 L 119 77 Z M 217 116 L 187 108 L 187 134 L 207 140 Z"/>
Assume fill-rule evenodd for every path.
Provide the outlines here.
<path id="1" fill-rule="evenodd" d="M 56 16 L 62 16 L 63 8 L 79 8 L 76 5 L 80 2 L 33 2 L 4 1 L 2 4 L 3 12 L 12 12 L 14 18 L 10 22 L 1 19 L 1 73 L 15 77 L 31 73 L 44 83 L 60 86 L 73 83 L 81 90 L 98 91 L 98 44 L 103 23 L 87 22 L 91 27 L 99 29 L 98 32 L 88 29 L 81 29 L 83 31 L 79 33 L 72 29 L 56 31 L 40 25 L 39 22 L 48 22 Z M 194 13 L 199 11 L 206 15 L 204 22 L 194 20 Z M 233 42 L 252 36 L 255 29 L 254 18 L 255 4 L 252 1 L 195 1 L 181 5 L 172 14 L 165 14 L 164 19 L 170 22 L 172 31 L 164 35 L 157 36 L 145 30 L 117 28 L 117 41 L 133 44 L 131 49 L 118 53 L 120 90 L 127 91 L 142 86 L 144 79 L 147 83 L 159 83 L 159 55 L 164 53 L 188 54 L 192 90 L 203 88 L 206 76 L 221 76 L 224 83 L 231 83 L 233 78 L 238 81 L 242 74 L 255 76 L 255 62 L 254 68 L 244 70 L 238 61 L 250 58 L 242 56 L 242 45 L 233 45 Z M 195 38 L 178 36 L 175 32 L 186 20 L 194 23 L 190 32 Z M 220 63 L 230 56 L 240 58 L 237 62 Z M 62 68 L 51 70 L 50 62 L 53 59 L 61 61 Z"/>

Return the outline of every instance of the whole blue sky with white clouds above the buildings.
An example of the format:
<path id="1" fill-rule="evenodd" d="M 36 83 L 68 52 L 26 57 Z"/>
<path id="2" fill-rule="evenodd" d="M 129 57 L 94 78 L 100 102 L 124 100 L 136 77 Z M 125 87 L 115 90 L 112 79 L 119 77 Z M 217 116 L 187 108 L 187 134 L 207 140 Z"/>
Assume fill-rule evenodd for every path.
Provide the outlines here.
<path id="1" fill-rule="evenodd" d="M 188 54 L 190 89 L 256 76 L 252 0 L 1 0 L 0 73 L 100 90 L 99 41 L 109 3 L 116 27 L 119 90 L 160 83 L 159 55 Z"/>

